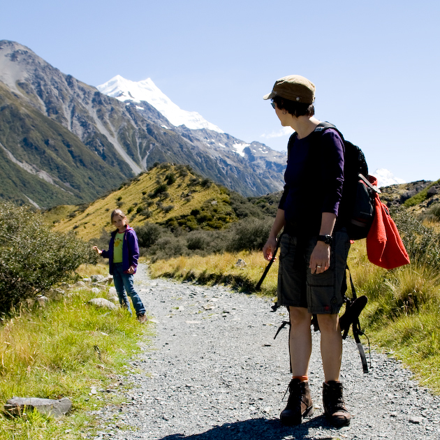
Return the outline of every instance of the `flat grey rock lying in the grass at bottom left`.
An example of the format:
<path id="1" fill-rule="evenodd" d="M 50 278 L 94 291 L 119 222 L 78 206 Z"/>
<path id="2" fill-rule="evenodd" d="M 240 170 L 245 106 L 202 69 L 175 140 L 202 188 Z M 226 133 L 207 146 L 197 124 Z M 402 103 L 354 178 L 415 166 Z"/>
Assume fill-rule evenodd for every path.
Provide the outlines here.
<path id="1" fill-rule="evenodd" d="M 13 397 L 6 402 L 4 409 L 12 416 L 21 416 L 26 411 L 36 409 L 46 416 L 61 417 L 72 408 L 71 399 L 40 399 L 38 397 Z"/>

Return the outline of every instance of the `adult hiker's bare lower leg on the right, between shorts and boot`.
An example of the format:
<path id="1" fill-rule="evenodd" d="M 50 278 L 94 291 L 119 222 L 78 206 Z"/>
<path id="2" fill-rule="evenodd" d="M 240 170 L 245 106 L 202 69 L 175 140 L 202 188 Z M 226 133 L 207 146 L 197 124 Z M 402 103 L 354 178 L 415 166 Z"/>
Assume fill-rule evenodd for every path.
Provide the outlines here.
<path id="1" fill-rule="evenodd" d="M 318 315 L 321 332 L 321 357 L 325 381 L 339 381 L 342 360 L 342 335 L 337 314 Z"/>

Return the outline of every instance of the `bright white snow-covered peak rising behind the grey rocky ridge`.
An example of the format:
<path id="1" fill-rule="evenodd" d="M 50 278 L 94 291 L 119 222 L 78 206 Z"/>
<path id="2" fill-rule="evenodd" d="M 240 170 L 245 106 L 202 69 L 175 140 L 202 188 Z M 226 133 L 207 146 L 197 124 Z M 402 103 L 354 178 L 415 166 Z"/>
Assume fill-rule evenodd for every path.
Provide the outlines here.
<path id="1" fill-rule="evenodd" d="M 131 101 L 140 103 L 147 101 L 156 110 L 162 113 L 171 124 L 175 126 L 185 125 L 189 129 L 208 129 L 224 133 L 218 126 L 207 122 L 198 112 L 182 110 L 156 87 L 150 78 L 142 81 L 131 81 L 116 75 L 110 81 L 96 87 L 101 93 L 119 99 L 119 101 Z"/>

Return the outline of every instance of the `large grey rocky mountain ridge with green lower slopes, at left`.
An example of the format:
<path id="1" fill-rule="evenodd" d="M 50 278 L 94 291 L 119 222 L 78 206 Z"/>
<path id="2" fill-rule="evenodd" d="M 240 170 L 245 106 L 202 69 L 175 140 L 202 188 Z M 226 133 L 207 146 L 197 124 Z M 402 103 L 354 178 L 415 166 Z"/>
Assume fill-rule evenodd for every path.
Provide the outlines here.
<path id="1" fill-rule="evenodd" d="M 281 189 L 283 154 L 175 127 L 147 102 L 101 94 L 19 43 L 0 41 L 0 86 L 2 198 L 41 207 L 90 202 L 156 162 L 189 164 L 247 196 Z"/>

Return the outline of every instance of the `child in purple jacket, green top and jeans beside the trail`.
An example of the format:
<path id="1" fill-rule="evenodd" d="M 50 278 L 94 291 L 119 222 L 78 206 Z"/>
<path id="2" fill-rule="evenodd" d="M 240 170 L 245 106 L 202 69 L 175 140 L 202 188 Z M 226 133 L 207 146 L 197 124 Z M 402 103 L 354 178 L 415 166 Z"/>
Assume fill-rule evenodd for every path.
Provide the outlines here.
<path id="1" fill-rule="evenodd" d="M 145 323 L 147 321 L 145 307 L 133 286 L 133 274 L 138 267 L 138 237 L 134 229 L 127 224 L 126 215 L 122 210 L 114 210 L 111 219 L 116 230 L 112 232 L 108 251 L 98 249 L 97 246 L 94 246 L 93 249 L 104 258 L 109 259 L 110 274 L 113 275 L 119 303 L 122 307 L 129 309 L 132 314 L 128 293 L 133 301 L 138 321 Z"/>

